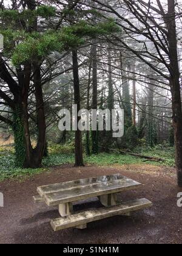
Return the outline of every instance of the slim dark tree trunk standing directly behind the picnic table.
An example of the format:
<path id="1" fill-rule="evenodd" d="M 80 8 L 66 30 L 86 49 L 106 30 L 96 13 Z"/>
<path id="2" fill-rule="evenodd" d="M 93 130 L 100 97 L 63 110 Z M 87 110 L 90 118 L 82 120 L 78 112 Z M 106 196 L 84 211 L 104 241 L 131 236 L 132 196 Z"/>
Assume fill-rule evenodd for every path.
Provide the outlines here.
<path id="1" fill-rule="evenodd" d="M 80 104 L 80 92 L 79 92 L 78 52 L 76 49 L 72 51 L 72 59 L 73 59 L 74 97 L 75 97 L 75 104 L 77 105 L 77 114 L 78 114 L 79 110 L 81 109 L 81 104 Z M 84 166 L 81 131 L 78 129 L 78 123 L 80 119 L 81 117 L 78 116 L 77 130 L 75 131 L 75 166 Z"/>

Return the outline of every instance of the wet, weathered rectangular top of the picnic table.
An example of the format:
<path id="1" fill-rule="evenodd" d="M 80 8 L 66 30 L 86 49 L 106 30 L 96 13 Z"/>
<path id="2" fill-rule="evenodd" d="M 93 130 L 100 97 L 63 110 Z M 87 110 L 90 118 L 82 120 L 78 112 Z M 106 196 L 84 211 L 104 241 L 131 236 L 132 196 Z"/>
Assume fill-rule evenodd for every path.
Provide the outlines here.
<path id="1" fill-rule="evenodd" d="M 38 193 L 45 203 L 51 206 L 118 193 L 140 186 L 141 183 L 135 180 L 114 174 L 38 187 Z"/>

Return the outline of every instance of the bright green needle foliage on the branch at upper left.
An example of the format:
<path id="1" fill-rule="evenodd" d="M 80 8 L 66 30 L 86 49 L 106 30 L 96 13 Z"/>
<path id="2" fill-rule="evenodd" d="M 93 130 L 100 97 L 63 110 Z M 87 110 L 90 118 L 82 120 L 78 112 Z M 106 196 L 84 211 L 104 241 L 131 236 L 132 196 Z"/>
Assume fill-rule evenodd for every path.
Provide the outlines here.
<path id="1" fill-rule="evenodd" d="M 38 9 L 39 12 L 47 10 L 42 8 Z M 47 12 L 45 11 L 45 13 Z M 33 22 L 32 16 L 30 18 Z M 117 30 L 116 24 L 109 20 L 107 23 L 98 23 L 96 26 L 87 24 L 86 21 L 80 21 L 78 24 L 64 27 L 58 31 L 47 30 L 43 33 L 27 33 L 25 30 L 7 28 L 1 29 L 0 32 L 4 35 L 4 54 L 11 57 L 13 65 L 18 67 L 27 62 L 32 63 L 34 60 L 41 62 L 52 52 L 62 52 L 81 46 L 84 44 L 85 37 L 107 35 L 115 30 Z"/>

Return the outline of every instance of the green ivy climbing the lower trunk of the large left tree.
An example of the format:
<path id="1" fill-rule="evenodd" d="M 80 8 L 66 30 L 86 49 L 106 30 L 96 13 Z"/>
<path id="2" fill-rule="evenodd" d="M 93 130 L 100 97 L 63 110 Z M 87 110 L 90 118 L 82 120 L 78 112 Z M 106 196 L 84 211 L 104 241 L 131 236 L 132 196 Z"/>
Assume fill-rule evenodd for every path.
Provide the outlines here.
<path id="1" fill-rule="evenodd" d="M 13 132 L 15 138 L 15 165 L 21 167 L 25 161 L 25 138 L 24 138 L 24 126 L 22 119 L 20 118 L 19 110 L 17 109 L 13 113 Z"/>

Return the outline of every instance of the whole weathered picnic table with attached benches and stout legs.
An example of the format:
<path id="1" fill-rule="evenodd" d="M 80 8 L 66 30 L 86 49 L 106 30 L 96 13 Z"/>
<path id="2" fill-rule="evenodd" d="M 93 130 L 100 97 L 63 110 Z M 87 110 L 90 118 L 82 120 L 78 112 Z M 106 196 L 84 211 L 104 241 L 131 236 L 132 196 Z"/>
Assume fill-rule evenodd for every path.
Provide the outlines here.
<path id="1" fill-rule="evenodd" d="M 118 193 L 140 188 L 141 185 L 121 174 L 114 174 L 38 187 L 39 195 L 33 196 L 33 199 L 49 206 L 58 205 L 61 218 L 51 221 L 53 230 L 69 227 L 86 229 L 89 222 L 115 215 L 130 215 L 131 212 L 150 207 L 152 202 L 145 198 L 122 203 L 117 200 Z M 104 207 L 73 213 L 73 202 L 90 197 L 98 197 Z"/>

